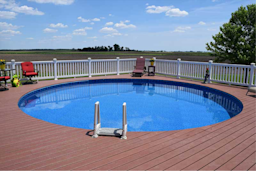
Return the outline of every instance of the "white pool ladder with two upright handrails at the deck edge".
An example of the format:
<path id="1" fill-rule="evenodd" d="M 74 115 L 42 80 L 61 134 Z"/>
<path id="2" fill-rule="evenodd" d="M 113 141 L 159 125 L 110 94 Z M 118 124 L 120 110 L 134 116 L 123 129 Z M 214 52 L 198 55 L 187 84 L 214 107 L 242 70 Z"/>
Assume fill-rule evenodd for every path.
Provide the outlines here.
<path id="1" fill-rule="evenodd" d="M 123 103 L 123 129 L 121 128 L 101 128 L 100 123 L 100 102 L 95 103 L 94 110 L 94 134 L 93 138 L 97 138 L 99 135 L 108 136 L 121 136 L 121 139 L 127 139 L 127 115 L 126 115 L 126 103 Z"/>

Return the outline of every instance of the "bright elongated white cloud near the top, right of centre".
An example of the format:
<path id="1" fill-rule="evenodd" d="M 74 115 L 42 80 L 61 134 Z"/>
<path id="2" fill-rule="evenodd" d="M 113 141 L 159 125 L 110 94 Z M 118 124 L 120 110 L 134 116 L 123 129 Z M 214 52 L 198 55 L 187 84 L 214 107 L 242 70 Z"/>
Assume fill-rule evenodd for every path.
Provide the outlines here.
<path id="1" fill-rule="evenodd" d="M 147 6 L 146 12 L 150 14 L 165 13 L 169 17 L 184 17 L 188 15 L 187 11 L 181 11 L 179 8 L 174 8 L 174 6 Z"/>

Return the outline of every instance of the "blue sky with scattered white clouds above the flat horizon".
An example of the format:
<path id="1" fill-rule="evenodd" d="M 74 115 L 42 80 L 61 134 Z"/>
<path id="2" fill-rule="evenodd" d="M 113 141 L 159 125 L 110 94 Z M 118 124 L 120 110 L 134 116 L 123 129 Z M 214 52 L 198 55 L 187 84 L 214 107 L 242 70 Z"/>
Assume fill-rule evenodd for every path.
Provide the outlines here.
<path id="1" fill-rule="evenodd" d="M 0 49 L 206 51 L 255 0 L 0 0 Z"/>

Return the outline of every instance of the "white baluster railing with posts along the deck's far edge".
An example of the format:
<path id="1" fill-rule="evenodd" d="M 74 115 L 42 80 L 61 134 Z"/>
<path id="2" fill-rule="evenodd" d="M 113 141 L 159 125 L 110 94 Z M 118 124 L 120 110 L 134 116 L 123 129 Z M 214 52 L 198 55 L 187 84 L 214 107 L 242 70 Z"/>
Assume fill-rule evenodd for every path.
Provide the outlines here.
<path id="1" fill-rule="evenodd" d="M 22 78 L 22 62 L 6 63 L 7 69 L 13 69 L 11 76 L 17 74 Z M 70 77 L 92 77 L 96 75 L 120 75 L 131 73 L 136 65 L 136 58 L 131 59 L 97 59 L 92 60 L 57 60 L 53 61 L 34 61 L 32 62 L 38 76 L 34 79 L 59 79 Z M 146 67 L 149 66 L 149 59 L 146 59 Z M 208 83 L 220 82 L 242 86 L 256 86 L 256 67 L 255 63 L 251 65 L 223 64 L 209 62 L 191 62 L 177 60 L 155 59 L 156 73 L 161 75 L 170 75 L 176 78 L 191 78 L 203 80 L 206 74 L 206 68 L 209 69 Z"/>

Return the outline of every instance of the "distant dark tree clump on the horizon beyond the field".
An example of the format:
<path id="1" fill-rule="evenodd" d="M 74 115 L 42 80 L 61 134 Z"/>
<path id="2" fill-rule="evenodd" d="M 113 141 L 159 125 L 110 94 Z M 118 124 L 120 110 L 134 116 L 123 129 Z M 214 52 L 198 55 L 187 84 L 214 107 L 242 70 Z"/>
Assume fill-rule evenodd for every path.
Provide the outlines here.
<path id="1" fill-rule="evenodd" d="M 128 47 L 119 46 L 114 44 L 113 46 L 95 46 L 95 47 L 84 47 L 82 49 L 77 49 L 78 51 L 136 51 Z"/>

